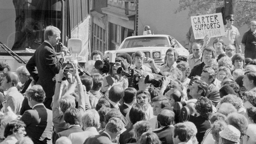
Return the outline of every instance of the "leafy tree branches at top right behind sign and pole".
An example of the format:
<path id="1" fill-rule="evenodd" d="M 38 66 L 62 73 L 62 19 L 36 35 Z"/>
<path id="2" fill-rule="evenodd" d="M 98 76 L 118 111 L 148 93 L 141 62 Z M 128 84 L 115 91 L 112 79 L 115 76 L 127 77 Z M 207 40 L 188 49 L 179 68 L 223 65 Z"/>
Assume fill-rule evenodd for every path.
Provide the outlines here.
<path id="1" fill-rule="evenodd" d="M 188 17 L 195 16 L 197 13 L 213 14 L 217 7 L 224 6 L 223 0 L 179 0 L 179 7 L 175 10 L 178 13 L 182 10 L 189 10 Z M 250 25 L 252 20 L 256 20 L 256 1 L 237 0 L 235 1 L 235 23 L 239 28 L 243 25 Z"/>

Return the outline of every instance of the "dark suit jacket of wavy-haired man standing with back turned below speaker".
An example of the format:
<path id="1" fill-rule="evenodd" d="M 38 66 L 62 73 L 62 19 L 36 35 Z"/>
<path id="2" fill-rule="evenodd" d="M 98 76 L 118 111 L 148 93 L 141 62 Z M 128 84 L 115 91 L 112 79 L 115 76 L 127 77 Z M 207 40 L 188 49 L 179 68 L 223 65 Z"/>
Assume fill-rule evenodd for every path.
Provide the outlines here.
<path id="1" fill-rule="evenodd" d="M 43 105 L 35 106 L 22 115 L 21 120 L 26 124 L 26 136 L 35 144 L 51 144 L 53 133 L 53 112 Z"/>

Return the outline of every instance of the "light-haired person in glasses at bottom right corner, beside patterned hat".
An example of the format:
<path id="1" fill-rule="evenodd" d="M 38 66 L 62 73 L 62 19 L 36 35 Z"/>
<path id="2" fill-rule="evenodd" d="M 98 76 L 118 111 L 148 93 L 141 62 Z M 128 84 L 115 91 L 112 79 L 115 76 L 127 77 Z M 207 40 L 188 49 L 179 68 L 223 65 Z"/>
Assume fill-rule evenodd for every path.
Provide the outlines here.
<path id="1" fill-rule="evenodd" d="M 247 129 L 242 133 L 243 144 L 255 144 L 256 143 L 256 125 L 249 124 Z"/>

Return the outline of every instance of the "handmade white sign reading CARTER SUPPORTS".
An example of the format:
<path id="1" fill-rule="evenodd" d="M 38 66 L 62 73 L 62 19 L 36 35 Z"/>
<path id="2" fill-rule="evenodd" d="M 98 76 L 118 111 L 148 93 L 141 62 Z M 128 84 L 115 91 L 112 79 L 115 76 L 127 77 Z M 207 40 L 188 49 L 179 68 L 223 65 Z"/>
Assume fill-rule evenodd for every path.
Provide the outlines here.
<path id="1" fill-rule="evenodd" d="M 225 35 L 221 13 L 193 16 L 191 23 L 195 39 Z"/>

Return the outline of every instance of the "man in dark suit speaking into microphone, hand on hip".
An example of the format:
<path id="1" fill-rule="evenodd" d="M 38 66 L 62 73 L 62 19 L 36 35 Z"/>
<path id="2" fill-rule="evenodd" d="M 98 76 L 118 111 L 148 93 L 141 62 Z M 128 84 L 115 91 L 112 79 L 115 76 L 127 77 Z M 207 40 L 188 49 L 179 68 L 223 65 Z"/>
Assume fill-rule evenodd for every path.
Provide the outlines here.
<path id="1" fill-rule="evenodd" d="M 59 43 L 60 33 L 61 31 L 57 27 L 47 26 L 44 31 L 45 41 L 37 48 L 26 65 L 36 84 L 43 87 L 46 94 L 44 105 L 50 110 L 55 90 L 55 75 L 59 73 L 65 59 L 64 53 L 62 53 L 62 58 L 58 60 L 53 47 Z M 63 46 L 62 51 L 67 51 L 67 47 Z"/>

